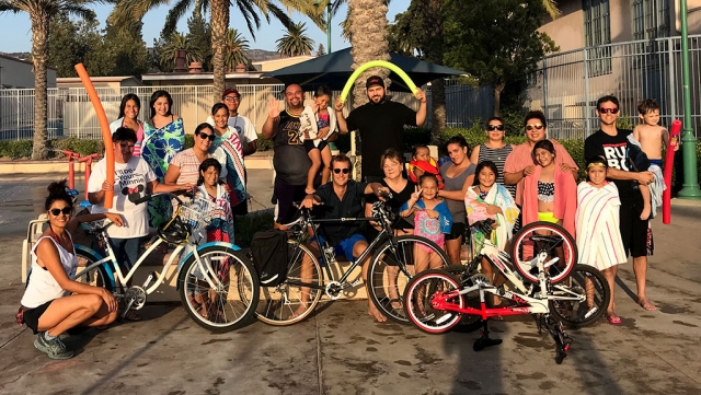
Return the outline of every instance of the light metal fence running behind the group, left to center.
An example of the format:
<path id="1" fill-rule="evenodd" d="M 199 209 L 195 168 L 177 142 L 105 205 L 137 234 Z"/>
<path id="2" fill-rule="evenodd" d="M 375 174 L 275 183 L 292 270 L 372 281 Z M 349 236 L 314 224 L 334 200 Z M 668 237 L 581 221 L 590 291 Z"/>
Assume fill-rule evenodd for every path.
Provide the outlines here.
<path id="1" fill-rule="evenodd" d="M 239 112 L 253 121 L 256 130 L 261 130 L 267 117 L 267 100 L 275 95 L 283 100 L 281 84 L 240 84 L 241 93 Z M 105 109 L 107 119 L 117 119 L 122 97 L 135 93 L 141 100 L 139 119 L 150 117 L 149 98 L 157 90 L 165 90 L 173 97 L 173 114 L 183 118 L 185 130 L 192 131 L 205 121 L 212 105 L 212 86 L 126 86 L 97 88 L 97 95 Z M 47 126 L 49 139 L 77 137 L 81 139 L 101 138 L 100 125 L 90 98 L 82 88 L 48 89 Z M 341 92 L 334 92 L 334 97 Z M 430 90 L 427 89 L 430 101 Z M 450 127 L 469 126 L 474 117 L 484 118 L 493 108 L 493 94 L 489 89 L 473 89 L 448 80 L 446 86 L 447 118 Z M 306 93 L 311 101 L 312 93 Z M 418 102 L 409 93 L 393 93 L 393 100 L 417 109 Z M 347 101 L 348 106 L 353 103 Z M 429 103 L 430 106 L 430 103 Z M 348 107 L 349 108 L 349 107 Z M 430 107 L 429 107 L 430 108 Z M 429 119 L 430 123 L 430 112 Z M 0 90 L 0 140 L 31 139 L 34 135 L 34 90 Z"/>

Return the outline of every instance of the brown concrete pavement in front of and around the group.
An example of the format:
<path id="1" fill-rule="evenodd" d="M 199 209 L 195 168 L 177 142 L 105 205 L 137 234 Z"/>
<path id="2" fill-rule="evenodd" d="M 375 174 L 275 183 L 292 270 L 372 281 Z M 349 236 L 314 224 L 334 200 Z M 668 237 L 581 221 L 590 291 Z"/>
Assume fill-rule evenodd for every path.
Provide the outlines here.
<path id="1" fill-rule="evenodd" d="M 269 172 L 256 178 L 269 183 Z M 623 265 L 616 290 L 623 325 L 600 322 L 572 330 L 574 344 L 562 365 L 554 363 L 553 341 L 529 320 L 494 323 L 493 335 L 504 344 L 475 353 L 478 333 L 430 336 L 378 324 L 363 301 L 322 305 L 290 327 L 252 323 L 223 335 L 202 329 L 179 305 L 148 305 L 145 321 L 90 330 L 70 342 L 77 357 L 53 361 L 32 346 L 31 330 L 13 322 L 23 291 L 24 224 L 34 208 L 41 210 L 38 190 L 46 183 L 0 183 L 0 220 L 11 218 L 0 226 L 3 395 L 701 393 L 697 202 L 675 201 L 671 225 L 653 222 L 657 249 L 648 293 L 659 311 L 635 304 L 632 265 Z M 269 202 L 260 190 L 252 195 Z"/>

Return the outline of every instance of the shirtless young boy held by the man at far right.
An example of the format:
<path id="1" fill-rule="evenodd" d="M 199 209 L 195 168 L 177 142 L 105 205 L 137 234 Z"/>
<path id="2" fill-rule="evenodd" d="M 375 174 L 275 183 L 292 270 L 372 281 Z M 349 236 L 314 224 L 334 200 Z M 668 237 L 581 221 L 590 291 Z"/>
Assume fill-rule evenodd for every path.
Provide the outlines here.
<path id="1" fill-rule="evenodd" d="M 662 193 L 665 189 L 664 176 L 662 174 L 662 148 L 669 142 L 669 131 L 657 125 L 659 121 L 659 106 L 654 100 L 644 100 L 637 105 L 642 125 L 633 129 L 633 139 L 629 137 L 631 143 L 640 147 L 650 160 L 648 169 L 640 169 L 639 172 L 648 170 L 655 174 L 655 182 L 651 186 L 639 185 L 643 196 L 643 212 L 641 220 L 655 217 L 657 207 L 662 205 Z M 679 146 L 675 147 L 678 150 Z M 652 194 L 652 195 L 651 195 Z M 653 207 L 654 206 L 654 207 Z"/>

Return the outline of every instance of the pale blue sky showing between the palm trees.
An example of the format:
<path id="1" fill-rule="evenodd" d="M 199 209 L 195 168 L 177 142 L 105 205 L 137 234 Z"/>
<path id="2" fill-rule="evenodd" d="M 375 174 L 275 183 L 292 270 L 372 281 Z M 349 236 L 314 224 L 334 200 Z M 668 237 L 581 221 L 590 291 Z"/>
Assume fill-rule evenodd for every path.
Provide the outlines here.
<path id="1" fill-rule="evenodd" d="M 387 19 L 392 22 L 394 15 L 406 11 L 410 0 L 392 0 L 390 2 L 389 12 Z M 152 10 L 143 18 L 143 40 L 147 47 L 153 45 L 153 38 L 160 35 L 161 28 L 165 22 L 165 15 L 168 14 L 168 5 L 161 5 L 158 9 Z M 111 5 L 95 5 L 94 11 L 97 14 L 97 19 L 101 22 L 101 27 L 104 27 L 104 21 L 112 11 Z M 192 14 L 189 10 L 184 16 L 177 28 L 180 32 L 187 31 L 186 20 Z M 331 36 L 332 36 L 332 49 L 338 50 L 350 46 L 341 37 L 341 27 L 338 24 L 346 15 L 346 5 L 343 4 L 338 10 L 336 16 L 331 21 Z M 314 50 L 319 47 L 319 44 L 323 44 L 324 48 L 327 46 L 326 32 L 317 27 L 308 18 L 300 15 L 299 13 L 292 14 L 295 22 L 307 23 L 307 34 L 314 40 Z M 275 40 L 280 38 L 285 34 L 285 28 L 274 18 L 271 18 L 271 23 L 266 23 L 265 20 L 261 23 L 261 28 L 255 33 L 257 37 L 253 40 L 251 34 L 243 21 L 243 18 L 238 13 L 235 8 L 231 9 L 231 22 L 230 27 L 238 28 L 246 39 L 249 39 L 252 49 L 265 49 L 275 50 Z M 12 37 L 9 40 L 2 40 L 0 43 L 0 51 L 3 53 L 28 53 L 32 50 L 32 30 L 30 19 L 26 13 L 0 13 L 0 37 Z M 329 48 L 326 48 L 329 51 Z"/>

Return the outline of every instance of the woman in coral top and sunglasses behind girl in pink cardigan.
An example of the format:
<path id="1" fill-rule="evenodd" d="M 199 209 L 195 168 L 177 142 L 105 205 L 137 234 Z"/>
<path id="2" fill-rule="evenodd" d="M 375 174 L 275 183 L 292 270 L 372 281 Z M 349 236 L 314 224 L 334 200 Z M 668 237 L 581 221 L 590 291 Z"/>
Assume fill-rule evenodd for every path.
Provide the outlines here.
<path id="1" fill-rule="evenodd" d="M 541 111 L 533 111 L 526 114 L 524 119 L 526 128 L 526 141 L 522 144 L 514 147 L 512 153 L 506 158 L 504 163 L 504 183 L 506 185 L 516 185 L 516 195 L 514 200 L 518 206 L 524 204 L 524 177 L 533 174 L 533 170 L 538 163 L 533 156 L 533 147 L 538 141 L 544 140 L 548 133 L 548 123 L 545 115 Z M 556 141 L 552 141 L 555 149 L 555 165 L 562 172 L 571 172 L 574 179 L 578 177 L 579 167 L 572 160 L 564 147 Z"/>

